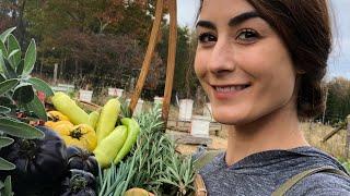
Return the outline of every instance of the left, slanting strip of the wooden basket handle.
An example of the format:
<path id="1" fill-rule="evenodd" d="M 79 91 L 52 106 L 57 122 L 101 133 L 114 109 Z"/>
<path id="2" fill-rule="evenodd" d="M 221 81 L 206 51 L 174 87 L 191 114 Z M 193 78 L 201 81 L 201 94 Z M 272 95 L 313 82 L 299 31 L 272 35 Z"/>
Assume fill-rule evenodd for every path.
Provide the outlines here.
<path id="1" fill-rule="evenodd" d="M 145 81 L 147 75 L 150 70 L 150 65 L 151 65 L 151 61 L 152 61 L 152 57 L 153 57 L 153 52 L 154 52 L 154 48 L 155 48 L 155 44 L 156 44 L 156 38 L 158 38 L 158 34 L 159 34 L 160 26 L 161 26 L 162 13 L 163 13 L 163 0 L 158 0 L 156 8 L 155 8 L 155 19 L 154 19 L 153 26 L 152 26 L 149 46 L 147 48 L 145 57 L 144 57 L 144 60 L 142 63 L 141 73 L 138 78 L 138 83 L 136 85 L 136 88 L 133 90 L 133 94 L 132 94 L 132 97 L 130 100 L 130 105 L 129 105 L 129 109 L 131 111 L 131 114 L 133 113 L 136 105 L 138 103 L 141 90 L 143 88 L 144 81 Z"/>

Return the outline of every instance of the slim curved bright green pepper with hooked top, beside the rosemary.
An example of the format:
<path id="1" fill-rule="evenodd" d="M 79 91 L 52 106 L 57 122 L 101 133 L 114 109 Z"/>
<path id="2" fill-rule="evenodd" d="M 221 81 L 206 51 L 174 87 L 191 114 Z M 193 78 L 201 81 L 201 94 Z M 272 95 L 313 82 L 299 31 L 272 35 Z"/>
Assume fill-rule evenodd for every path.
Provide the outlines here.
<path id="1" fill-rule="evenodd" d="M 128 128 L 128 138 L 119 150 L 117 157 L 114 159 L 114 163 L 117 164 L 131 149 L 140 133 L 140 126 L 138 122 L 130 118 L 121 119 L 121 124 Z"/>

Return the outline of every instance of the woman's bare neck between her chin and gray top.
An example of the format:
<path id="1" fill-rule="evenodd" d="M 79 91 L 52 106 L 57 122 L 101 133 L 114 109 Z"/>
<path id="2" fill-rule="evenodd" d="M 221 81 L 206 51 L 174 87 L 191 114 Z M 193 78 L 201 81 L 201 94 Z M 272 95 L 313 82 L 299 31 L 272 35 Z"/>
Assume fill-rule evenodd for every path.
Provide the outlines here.
<path id="1" fill-rule="evenodd" d="M 228 166 L 259 151 L 308 146 L 296 112 L 288 107 L 246 125 L 228 126 Z"/>

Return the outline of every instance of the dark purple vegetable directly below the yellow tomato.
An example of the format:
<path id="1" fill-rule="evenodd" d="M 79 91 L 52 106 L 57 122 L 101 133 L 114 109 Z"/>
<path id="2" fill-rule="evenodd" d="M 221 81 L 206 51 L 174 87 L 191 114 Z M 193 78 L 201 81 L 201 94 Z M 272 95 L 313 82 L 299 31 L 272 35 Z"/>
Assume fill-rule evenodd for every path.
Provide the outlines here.
<path id="1" fill-rule="evenodd" d="M 84 170 L 98 175 L 98 163 L 93 154 L 77 146 L 67 147 L 68 169 Z"/>

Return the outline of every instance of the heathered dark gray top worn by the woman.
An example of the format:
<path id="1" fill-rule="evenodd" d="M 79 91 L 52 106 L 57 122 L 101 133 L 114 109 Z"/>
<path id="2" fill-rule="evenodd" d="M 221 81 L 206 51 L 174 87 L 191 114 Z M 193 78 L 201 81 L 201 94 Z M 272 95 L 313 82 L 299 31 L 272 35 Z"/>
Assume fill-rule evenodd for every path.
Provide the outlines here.
<path id="1" fill-rule="evenodd" d="M 209 196 L 271 195 L 293 175 L 316 167 L 330 166 L 346 172 L 337 160 L 313 147 L 257 152 L 230 167 L 224 157 L 225 152 L 220 154 L 199 171 Z M 350 179 L 315 173 L 296 183 L 285 195 L 350 196 Z"/>

